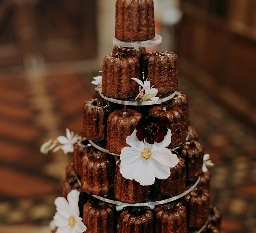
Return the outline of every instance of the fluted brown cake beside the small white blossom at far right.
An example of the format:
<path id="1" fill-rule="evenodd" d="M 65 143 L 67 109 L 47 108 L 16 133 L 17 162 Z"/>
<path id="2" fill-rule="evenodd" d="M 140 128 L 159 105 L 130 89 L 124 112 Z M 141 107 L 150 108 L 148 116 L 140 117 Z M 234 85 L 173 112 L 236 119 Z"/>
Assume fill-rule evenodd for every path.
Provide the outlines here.
<path id="1" fill-rule="evenodd" d="M 194 180 L 202 174 L 204 147 L 199 141 L 191 140 L 183 145 L 181 156 L 186 162 L 188 180 Z"/>

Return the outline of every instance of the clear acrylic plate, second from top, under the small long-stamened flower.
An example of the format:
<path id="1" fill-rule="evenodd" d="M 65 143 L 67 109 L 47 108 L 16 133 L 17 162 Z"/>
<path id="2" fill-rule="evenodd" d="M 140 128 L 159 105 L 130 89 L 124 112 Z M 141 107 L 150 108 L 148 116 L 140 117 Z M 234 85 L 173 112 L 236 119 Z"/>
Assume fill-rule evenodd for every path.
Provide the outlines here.
<path id="1" fill-rule="evenodd" d="M 146 106 L 146 105 L 155 105 L 156 103 L 154 103 L 153 101 L 126 101 L 126 100 L 118 100 L 118 99 L 113 99 L 113 98 L 108 98 L 108 97 L 105 97 L 102 93 L 101 93 L 101 89 L 99 89 L 99 94 L 100 96 L 107 100 L 107 101 L 110 101 L 112 103 L 115 103 L 115 104 L 121 104 L 121 105 L 130 105 L 130 106 Z M 173 94 L 163 98 L 163 99 L 159 99 L 158 102 L 159 103 L 164 103 L 170 99 L 172 99 L 174 96 L 176 95 L 176 92 L 174 92 Z"/>

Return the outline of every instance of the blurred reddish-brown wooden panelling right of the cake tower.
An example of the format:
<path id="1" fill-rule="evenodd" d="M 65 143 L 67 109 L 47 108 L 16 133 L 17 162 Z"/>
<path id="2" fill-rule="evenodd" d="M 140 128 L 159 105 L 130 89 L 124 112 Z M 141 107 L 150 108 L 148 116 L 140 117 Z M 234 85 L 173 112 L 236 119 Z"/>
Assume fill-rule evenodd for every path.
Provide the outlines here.
<path id="1" fill-rule="evenodd" d="M 182 72 L 256 126 L 256 1 L 182 0 Z"/>

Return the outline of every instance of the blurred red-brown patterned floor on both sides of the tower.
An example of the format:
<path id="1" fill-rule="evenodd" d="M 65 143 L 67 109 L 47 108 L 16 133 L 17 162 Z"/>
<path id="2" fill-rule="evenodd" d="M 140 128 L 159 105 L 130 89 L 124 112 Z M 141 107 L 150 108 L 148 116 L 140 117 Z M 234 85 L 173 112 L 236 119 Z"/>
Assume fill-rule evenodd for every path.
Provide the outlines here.
<path id="1" fill-rule="evenodd" d="M 42 155 L 39 147 L 47 138 L 64 134 L 66 127 L 82 130 L 82 107 L 94 88 L 92 77 L 0 77 L 0 224 L 22 226 L 0 226 L 0 232 L 45 232 L 32 226 L 46 226 L 52 219 L 68 158 L 62 153 Z M 179 87 L 188 94 L 191 123 L 216 164 L 211 169 L 212 201 L 223 211 L 223 232 L 255 233 L 255 132 L 189 80 L 180 79 Z"/>

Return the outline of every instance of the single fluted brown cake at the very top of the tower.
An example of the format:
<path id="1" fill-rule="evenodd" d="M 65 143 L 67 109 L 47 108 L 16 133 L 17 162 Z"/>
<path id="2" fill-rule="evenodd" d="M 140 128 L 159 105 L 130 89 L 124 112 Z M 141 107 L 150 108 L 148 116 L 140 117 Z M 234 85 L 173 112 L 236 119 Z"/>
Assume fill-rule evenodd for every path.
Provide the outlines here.
<path id="1" fill-rule="evenodd" d="M 115 37 L 121 41 L 145 41 L 155 37 L 153 0 L 117 0 Z"/>

